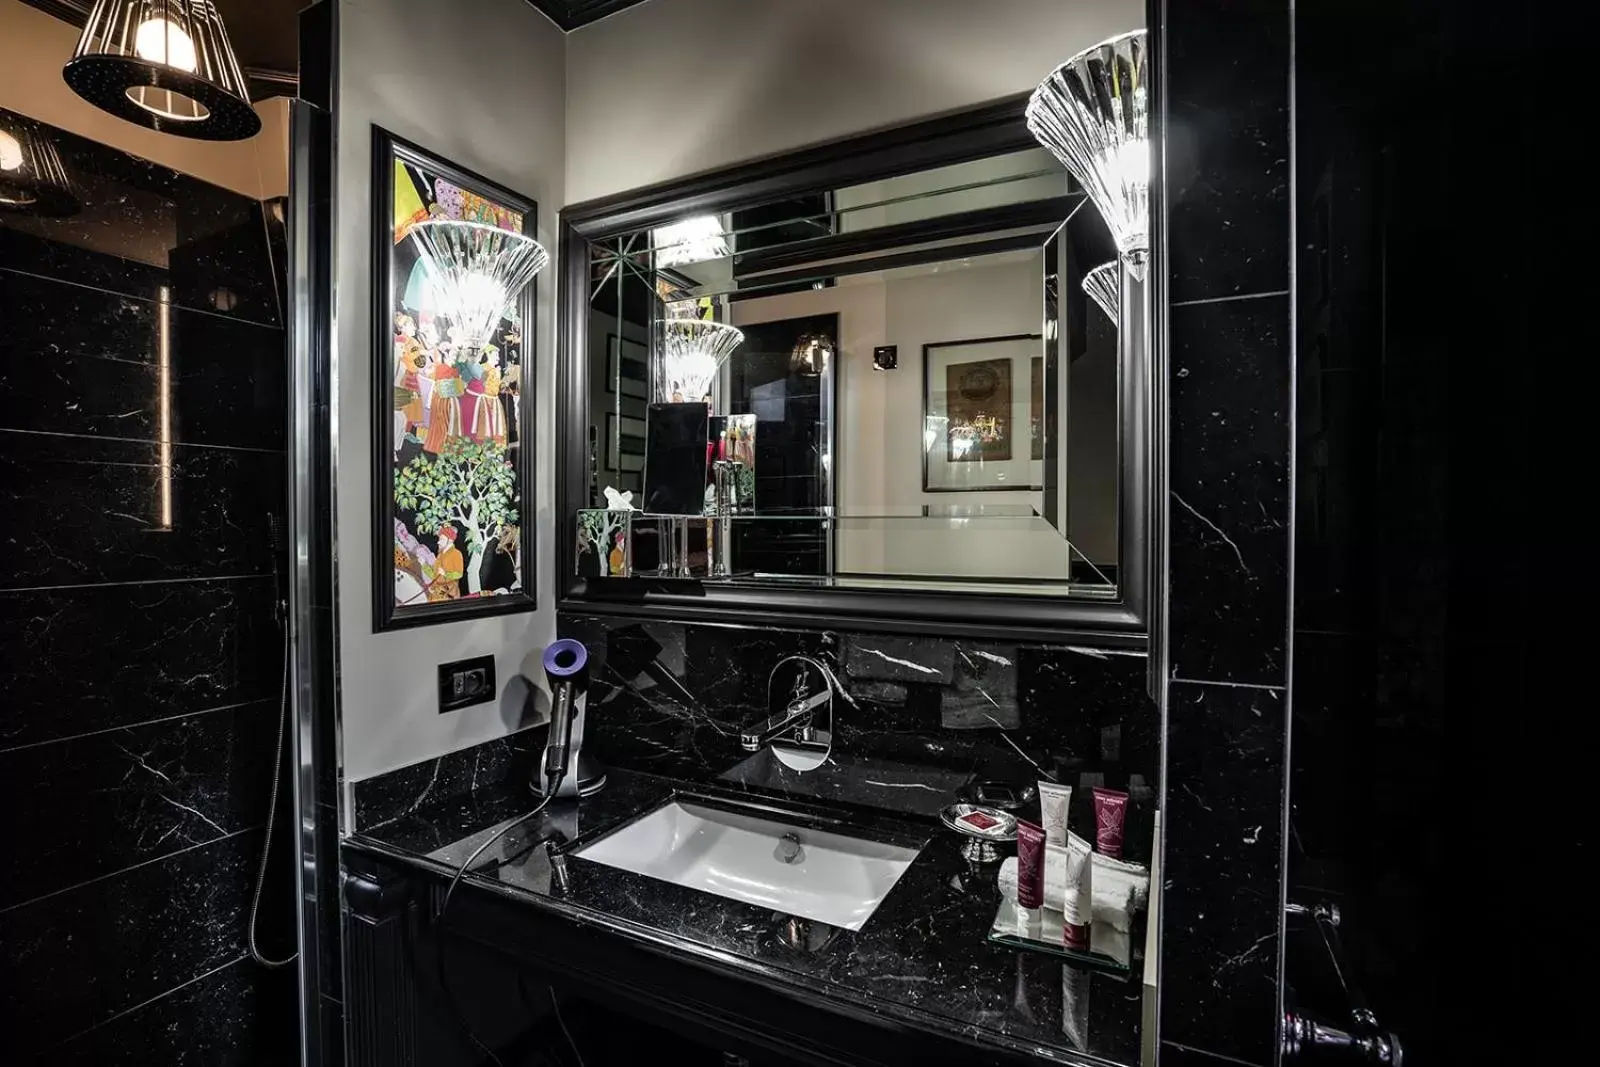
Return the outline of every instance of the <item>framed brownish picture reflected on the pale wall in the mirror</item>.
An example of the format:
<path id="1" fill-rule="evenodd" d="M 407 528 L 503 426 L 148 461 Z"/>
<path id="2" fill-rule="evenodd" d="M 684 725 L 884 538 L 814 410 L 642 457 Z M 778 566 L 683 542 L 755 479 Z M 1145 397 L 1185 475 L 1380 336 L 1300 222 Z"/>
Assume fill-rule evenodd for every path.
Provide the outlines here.
<path id="1" fill-rule="evenodd" d="M 922 347 L 923 493 L 1043 486 L 1043 336 Z"/>

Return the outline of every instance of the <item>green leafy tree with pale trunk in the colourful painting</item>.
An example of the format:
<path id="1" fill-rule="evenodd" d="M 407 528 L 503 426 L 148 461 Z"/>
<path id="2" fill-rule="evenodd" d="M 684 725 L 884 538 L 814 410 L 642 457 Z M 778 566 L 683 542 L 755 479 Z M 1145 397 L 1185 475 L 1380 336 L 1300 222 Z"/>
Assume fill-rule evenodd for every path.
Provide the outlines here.
<path id="1" fill-rule="evenodd" d="M 419 533 L 467 533 L 467 592 L 483 592 L 483 553 L 517 523 L 517 472 L 498 442 L 451 437 L 437 459 L 419 454 L 395 472 L 395 502 L 416 512 Z"/>

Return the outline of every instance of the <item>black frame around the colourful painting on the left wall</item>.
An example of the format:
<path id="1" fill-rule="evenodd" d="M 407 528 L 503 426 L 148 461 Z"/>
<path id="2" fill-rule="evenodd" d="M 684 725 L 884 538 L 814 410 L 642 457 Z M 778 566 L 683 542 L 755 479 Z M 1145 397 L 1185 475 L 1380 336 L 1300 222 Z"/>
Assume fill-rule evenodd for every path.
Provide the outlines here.
<path id="1" fill-rule="evenodd" d="M 488 616 L 533 611 L 538 595 L 538 507 L 533 494 L 538 470 L 538 408 L 536 357 L 538 357 L 538 277 L 517 298 L 522 314 L 522 373 L 518 390 L 522 403 L 517 419 L 517 477 L 520 499 L 517 507 L 518 539 L 522 552 L 522 589 L 502 597 L 461 598 L 429 603 L 416 608 L 395 608 L 394 603 L 394 472 L 389 446 L 389 419 L 394 397 L 394 341 L 392 323 L 394 285 L 389 277 L 394 254 L 394 160 L 403 158 L 427 166 L 432 173 L 470 189 L 496 203 L 522 213 L 523 234 L 534 237 L 539 226 L 539 205 L 530 197 L 501 186 L 475 171 L 442 160 L 413 141 L 373 125 L 373 213 L 371 213 L 371 274 L 373 274 L 373 632 L 400 630 L 437 622 L 459 622 Z"/>

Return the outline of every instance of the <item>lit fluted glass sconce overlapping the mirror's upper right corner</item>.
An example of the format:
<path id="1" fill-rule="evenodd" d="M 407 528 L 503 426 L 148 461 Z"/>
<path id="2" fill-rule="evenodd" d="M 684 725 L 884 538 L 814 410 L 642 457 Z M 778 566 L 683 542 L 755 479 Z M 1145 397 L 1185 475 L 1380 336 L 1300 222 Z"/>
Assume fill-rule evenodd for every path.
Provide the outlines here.
<path id="1" fill-rule="evenodd" d="M 1061 160 L 1110 227 L 1117 253 L 1144 278 L 1150 251 L 1150 122 L 1146 32 L 1067 59 L 1027 102 L 1027 128 Z"/>

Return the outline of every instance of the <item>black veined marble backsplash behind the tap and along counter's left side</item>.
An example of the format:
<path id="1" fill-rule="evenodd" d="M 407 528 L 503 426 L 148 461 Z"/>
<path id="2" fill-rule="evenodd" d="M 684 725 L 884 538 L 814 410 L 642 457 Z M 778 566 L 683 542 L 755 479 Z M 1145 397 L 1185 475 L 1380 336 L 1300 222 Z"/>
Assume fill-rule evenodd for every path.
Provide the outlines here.
<path id="1" fill-rule="evenodd" d="M 584 749 L 605 766 L 918 819 L 968 782 L 1021 789 L 1045 773 L 1083 787 L 1072 821 L 1085 837 L 1094 832 L 1086 785 L 1126 789 L 1126 856 L 1149 859 L 1160 721 L 1142 654 L 597 616 L 560 616 L 557 629 L 590 649 Z M 768 677 L 792 654 L 824 659 L 845 689 L 832 758 L 806 774 L 739 747 L 741 726 L 768 715 Z M 355 782 L 357 829 L 474 805 L 480 784 L 531 773 L 541 734 Z M 442 833 L 440 846 L 454 840 L 448 825 Z"/>

